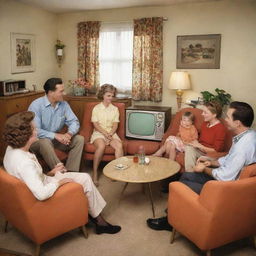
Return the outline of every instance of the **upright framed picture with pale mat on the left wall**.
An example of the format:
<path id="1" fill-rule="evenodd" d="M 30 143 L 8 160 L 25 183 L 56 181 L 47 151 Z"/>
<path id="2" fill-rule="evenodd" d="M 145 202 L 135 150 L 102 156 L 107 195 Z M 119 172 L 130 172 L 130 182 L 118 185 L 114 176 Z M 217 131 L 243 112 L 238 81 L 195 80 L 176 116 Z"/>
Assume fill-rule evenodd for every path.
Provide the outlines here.
<path id="1" fill-rule="evenodd" d="M 35 36 L 11 33 L 12 73 L 35 71 Z"/>

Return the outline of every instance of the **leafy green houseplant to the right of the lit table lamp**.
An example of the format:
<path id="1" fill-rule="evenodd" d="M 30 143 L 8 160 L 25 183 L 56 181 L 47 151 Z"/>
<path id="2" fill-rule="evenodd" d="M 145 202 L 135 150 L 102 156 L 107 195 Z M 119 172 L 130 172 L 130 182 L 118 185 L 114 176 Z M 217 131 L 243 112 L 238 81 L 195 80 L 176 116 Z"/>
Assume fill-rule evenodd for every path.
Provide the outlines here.
<path id="1" fill-rule="evenodd" d="M 210 93 L 209 91 L 202 91 L 203 101 L 205 103 L 209 101 L 218 101 L 222 107 L 230 103 L 231 95 L 229 93 L 219 88 L 216 88 L 215 92 L 216 94 Z"/>

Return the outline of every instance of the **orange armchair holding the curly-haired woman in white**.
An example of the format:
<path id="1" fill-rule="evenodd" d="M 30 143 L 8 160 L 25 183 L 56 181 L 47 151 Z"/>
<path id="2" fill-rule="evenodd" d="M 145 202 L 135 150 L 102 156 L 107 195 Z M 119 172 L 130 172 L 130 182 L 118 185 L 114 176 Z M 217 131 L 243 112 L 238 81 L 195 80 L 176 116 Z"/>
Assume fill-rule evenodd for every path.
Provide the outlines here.
<path id="1" fill-rule="evenodd" d="M 83 188 L 77 183 L 60 187 L 55 194 L 38 201 L 25 183 L 0 169 L 0 211 L 20 232 L 36 243 L 39 255 L 40 245 L 58 235 L 88 222 L 88 201 Z"/>

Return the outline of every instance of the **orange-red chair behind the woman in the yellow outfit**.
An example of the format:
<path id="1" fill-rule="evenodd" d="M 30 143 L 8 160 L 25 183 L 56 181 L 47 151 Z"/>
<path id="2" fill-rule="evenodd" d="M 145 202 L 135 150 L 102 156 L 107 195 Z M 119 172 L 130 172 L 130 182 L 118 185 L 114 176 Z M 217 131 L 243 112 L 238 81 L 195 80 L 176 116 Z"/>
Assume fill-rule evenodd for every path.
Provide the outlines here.
<path id="1" fill-rule="evenodd" d="M 93 132 L 93 123 L 91 122 L 91 116 L 92 116 L 92 110 L 95 105 L 99 104 L 99 102 L 87 102 L 85 103 L 84 107 L 84 117 L 83 117 L 83 123 L 80 130 L 80 135 L 84 136 L 84 159 L 86 160 L 93 160 L 94 152 L 95 152 L 95 146 L 90 143 L 90 138 Z M 120 137 L 120 139 L 124 142 L 125 140 L 125 104 L 124 103 L 112 103 L 116 107 L 118 107 L 119 110 L 119 124 L 116 133 Z M 125 143 L 124 143 L 125 147 Z M 111 146 L 106 146 L 105 152 L 103 155 L 102 160 L 103 161 L 111 161 L 115 159 L 115 151 Z"/>

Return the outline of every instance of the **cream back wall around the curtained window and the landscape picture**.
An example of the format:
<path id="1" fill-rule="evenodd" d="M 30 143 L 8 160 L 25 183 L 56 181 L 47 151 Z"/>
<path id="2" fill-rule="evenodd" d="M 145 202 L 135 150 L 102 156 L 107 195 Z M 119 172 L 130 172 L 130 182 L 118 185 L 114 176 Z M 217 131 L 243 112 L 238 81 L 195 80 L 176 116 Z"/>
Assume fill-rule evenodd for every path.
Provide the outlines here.
<path id="1" fill-rule="evenodd" d="M 163 101 L 159 104 L 176 110 L 176 96 L 170 91 L 170 73 L 176 70 L 177 35 L 221 34 L 220 69 L 187 69 L 192 91 L 184 99 L 196 98 L 200 91 L 223 88 L 234 100 L 255 104 L 256 70 L 256 1 L 224 0 L 207 3 L 176 4 L 158 7 L 137 7 L 85 11 L 58 15 L 58 35 L 66 44 L 66 59 L 61 69 L 65 81 L 77 76 L 77 23 L 99 20 L 118 22 L 134 18 L 162 16 L 164 22 L 164 84 Z M 252 93 L 254 92 L 254 93 Z"/>

